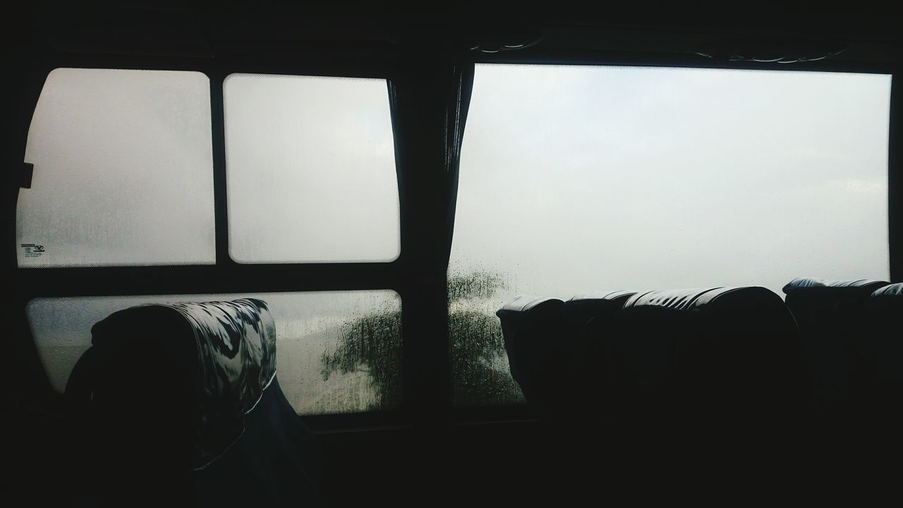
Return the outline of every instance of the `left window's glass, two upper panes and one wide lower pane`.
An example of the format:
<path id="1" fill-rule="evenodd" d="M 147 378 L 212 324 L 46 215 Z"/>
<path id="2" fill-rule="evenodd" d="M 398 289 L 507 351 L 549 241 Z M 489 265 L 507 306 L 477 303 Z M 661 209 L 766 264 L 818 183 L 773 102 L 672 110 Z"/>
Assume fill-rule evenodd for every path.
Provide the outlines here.
<path id="1" fill-rule="evenodd" d="M 235 74 L 223 86 L 233 259 L 397 258 L 386 80 Z M 212 118 L 210 81 L 200 72 L 52 71 L 29 131 L 25 160 L 34 172 L 32 187 L 19 195 L 19 266 L 215 264 L 213 147 L 221 145 L 213 142 Z M 274 316 L 280 385 L 299 413 L 401 403 L 401 300 L 394 291 L 201 294 L 201 274 L 228 280 L 231 267 L 183 270 L 201 286 L 193 295 L 33 299 L 27 315 L 51 387 L 65 390 L 91 327 L 117 310 L 257 297 Z M 141 273 L 128 269 L 116 277 Z M 130 291 L 154 287 L 137 279 Z M 270 286 L 264 276 L 256 280 L 263 290 Z M 63 287 L 65 294 L 79 290 Z"/>

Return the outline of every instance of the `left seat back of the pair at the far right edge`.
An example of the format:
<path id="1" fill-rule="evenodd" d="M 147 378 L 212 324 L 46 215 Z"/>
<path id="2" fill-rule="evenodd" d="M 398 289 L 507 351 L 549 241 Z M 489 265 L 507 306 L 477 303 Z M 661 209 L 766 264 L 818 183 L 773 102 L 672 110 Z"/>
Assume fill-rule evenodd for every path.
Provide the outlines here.
<path id="1" fill-rule="evenodd" d="M 787 307 L 803 337 L 811 375 L 812 400 L 820 412 L 834 413 L 850 403 L 850 341 L 863 332 L 862 304 L 889 283 L 880 280 L 825 281 L 795 278 L 784 287 Z"/>

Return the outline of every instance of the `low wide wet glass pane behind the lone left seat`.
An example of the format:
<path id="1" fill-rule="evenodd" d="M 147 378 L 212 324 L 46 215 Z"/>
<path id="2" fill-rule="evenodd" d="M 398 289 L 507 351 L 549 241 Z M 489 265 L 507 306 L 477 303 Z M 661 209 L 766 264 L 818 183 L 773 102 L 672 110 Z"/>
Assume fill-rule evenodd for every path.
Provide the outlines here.
<path id="1" fill-rule="evenodd" d="M 91 326 L 151 303 L 258 298 L 276 325 L 276 372 L 299 414 L 389 409 L 401 402 L 401 298 L 394 291 L 36 298 L 28 318 L 54 390 L 91 344 Z"/>

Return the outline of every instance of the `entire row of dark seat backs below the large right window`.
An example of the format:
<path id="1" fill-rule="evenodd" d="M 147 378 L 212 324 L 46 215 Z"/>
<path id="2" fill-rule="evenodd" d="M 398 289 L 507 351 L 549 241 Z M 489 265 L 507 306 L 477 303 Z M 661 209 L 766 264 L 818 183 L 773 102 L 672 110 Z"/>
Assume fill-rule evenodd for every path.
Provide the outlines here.
<path id="1" fill-rule="evenodd" d="M 784 291 L 786 306 L 762 287 L 595 291 L 567 302 L 517 296 L 498 316 L 512 375 L 539 411 L 552 403 L 556 412 L 567 413 L 599 400 L 600 393 L 623 403 L 648 402 L 654 381 L 678 390 L 677 372 L 685 377 L 691 366 L 712 386 L 727 390 L 733 383 L 734 393 L 759 383 L 753 392 L 772 407 L 777 400 L 796 400 L 799 406 L 808 401 L 830 408 L 851 398 L 894 406 L 903 384 L 903 284 L 797 278 Z M 756 369 L 773 375 L 757 375 Z M 852 384 L 849 370 L 855 371 Z M 631 379 L 632 387 L 626 381 Z M 694 390 L 701 388 L 714 395 L 704 387 Z M 676 394 L 666 399 L 680 400 Z"/>

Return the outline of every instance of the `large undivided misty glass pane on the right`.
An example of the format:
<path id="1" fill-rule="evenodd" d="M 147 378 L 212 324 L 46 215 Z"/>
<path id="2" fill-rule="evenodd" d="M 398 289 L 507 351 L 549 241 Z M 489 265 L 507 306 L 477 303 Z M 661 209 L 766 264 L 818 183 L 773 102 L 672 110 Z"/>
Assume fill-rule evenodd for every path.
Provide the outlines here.
<path id="1" fill-rule="evenodd" d="M 888 75 L 478 65 L 451 279 L 497 281 L 467 301 L 493 319 L 519 293 L 887 279 L 889 97 Z"/>

